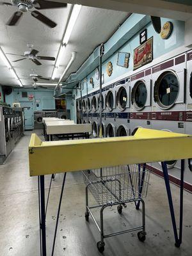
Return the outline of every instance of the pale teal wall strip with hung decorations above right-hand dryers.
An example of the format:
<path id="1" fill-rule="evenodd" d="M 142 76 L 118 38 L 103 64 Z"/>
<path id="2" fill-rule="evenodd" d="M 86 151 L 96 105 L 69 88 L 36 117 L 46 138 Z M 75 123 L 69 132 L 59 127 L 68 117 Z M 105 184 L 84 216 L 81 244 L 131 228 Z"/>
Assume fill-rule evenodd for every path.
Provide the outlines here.
<path id="1" fill-rule="evenodd" d="M 129 23 L 129 19 L 130 18 L 128 18 L 125 21 L 125 22 L 127 22 L 127 24 Z M 150 22 L 147 24 L 147 26 L 140 29 L 140 31 L 138 31 L 138 33 L 133 35 L 131 40 L 125 42 L 123 47 L 118 49 L 118 51 L 130 52 L 131 55 L 129 58 L 129 68 L 124 68 L 124 67 L 120 67 L 120 66 L 116 65 L 118 51 L 116 51 L 113 55 L 111 55 L 108 58 L 108 60 L 106 60 L 102 64 L 102 73 L 104 74 L 104 83 L 108 83 L 108 82 L 112 81 L 113 79 L 115 79 L 116 77 L 122 76 L 125 73 L 131 72 L 133 70 L 133 52 L 134 52 L 134 49 L 140 45 L 140 32 L 143 31 L 143 29 L 145 29 L 145 28 L 147 28 L 147 38 L 150 38 L 153 36 L 153 60 L 156 60 L 156 58 L 158 58 L 159 56 L 162 56 L 163 54 L 166 54 L 170 51 L 173 51 L 174 49 L 177 49 L 177 47 L 184 45 L 184 26 L 185 26 L 184 22 L 179 21 L 179 20 L 161 18 L 162 25 L 168 20 L 172 21 L 172 23 L 173 23 L 173 32 L 172 32 L 172 35 L 170 36 L 170 38 L 168 38 L 167 40 L 161 39 L 160 35 L 154 31 L 154 28 Z M 115 35 L 113 35 L 113 37 L 114 36 Z M 108 42 L 110 42 L 110 39 Z M 106 72 L 108 61 L 111 61 L 113 63 L 113 73 L 110 77 L 108 76 L 108 74 Z M 151 65 L 153 65 L 153 64 L 151 63 Z M 140 68 L 138 68 L 137 71 L 140 72 Z M 93 81 L 95 83 L 94 88 L 99 87 L 99 81 L 97 81 L 95 79 L 95 70 L 93 70 L 93 72 L 90 73 L 87 77 L 84 77 L 84 79 L 86 79 L 86 78 L 88 79 L 88 92 L 93 90 L 92 84 L 89 83 L 90 77 L 93 77 Z M 84 79 L 83 79 L 83 81 L 84 81 Z M 82 95 L 86 95 L 85 84 L 86 83 L 84 83 Z M 76 95 L 76 97 L 80 97 L 79 92 L 77 94 L 76 94 L 76 92 L 73 92 L 73 94 Z M 75 106 L 75 104 L 74 104 L 74 106 Z"/>

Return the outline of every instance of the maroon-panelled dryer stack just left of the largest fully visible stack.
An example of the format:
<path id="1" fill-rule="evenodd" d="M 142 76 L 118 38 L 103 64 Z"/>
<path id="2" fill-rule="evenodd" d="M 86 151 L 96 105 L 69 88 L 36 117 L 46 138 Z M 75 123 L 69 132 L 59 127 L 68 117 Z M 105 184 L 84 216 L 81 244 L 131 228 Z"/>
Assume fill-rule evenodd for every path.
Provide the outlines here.
<path id="1" fill-rule="evenodd" d="M 150 68 L 131 76 L 131 135 L 134 135 L 138 127 L 151 128 L 151 73 Z"/>

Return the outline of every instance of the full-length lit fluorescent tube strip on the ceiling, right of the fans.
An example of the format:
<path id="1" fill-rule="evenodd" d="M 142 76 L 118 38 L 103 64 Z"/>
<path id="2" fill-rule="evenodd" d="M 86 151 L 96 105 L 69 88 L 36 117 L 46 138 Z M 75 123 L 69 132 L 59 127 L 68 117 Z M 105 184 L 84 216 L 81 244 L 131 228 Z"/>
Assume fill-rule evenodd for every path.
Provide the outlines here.
<path id="1" fill-rule="evenodd" d="M 66 45 L 68 44 L 70 35 L 72 33 L 72 30 L 74 29 L 74 26 L 76 24 L 77 17 L 79 16 L 79 12 L 81 10 L 81 4 L 75 4 L 72 8 L 72 12 L 70 14 L 70 18 L 68 20 L 67 29 L 65 30 L 65 35 L 63 36 L 63 41 L 60 46 L 60 50 L 58 52 L 58 56 L 54 65 L 54 69 L 52 72 L 51 79 L 54 80 L 56 77 L 56 72 L 58 70 L 58 67 L 60 67 L 61 60 L 63 58 L 63 54 L 65 52 Z"/>

